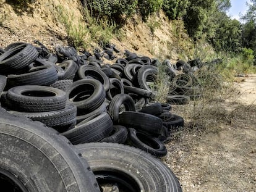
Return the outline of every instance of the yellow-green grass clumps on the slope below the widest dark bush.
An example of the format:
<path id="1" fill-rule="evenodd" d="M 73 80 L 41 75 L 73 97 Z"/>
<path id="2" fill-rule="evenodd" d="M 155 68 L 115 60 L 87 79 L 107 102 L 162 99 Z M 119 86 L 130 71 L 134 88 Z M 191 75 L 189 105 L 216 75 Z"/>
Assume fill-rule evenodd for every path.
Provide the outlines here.
<path id="1" fill-rule="evenodd" d="M 56 7 L 56 20 L 64 25 L 67 40 L 75 48 L 104 46 L 114 36 L 118 38 L 122 35 L 115 23 L 93 18 L 86 7 L 81 8 L 81 13 L 83 17 L 75 18 L 77 16 L 71 10 L 63 6 Z"/>

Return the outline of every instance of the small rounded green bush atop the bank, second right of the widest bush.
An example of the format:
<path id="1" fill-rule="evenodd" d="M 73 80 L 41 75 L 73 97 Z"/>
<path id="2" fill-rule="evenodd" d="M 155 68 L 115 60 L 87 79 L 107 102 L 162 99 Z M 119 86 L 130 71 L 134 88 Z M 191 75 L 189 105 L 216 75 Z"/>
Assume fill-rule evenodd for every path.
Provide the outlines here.
<path id="1" fill-rule="evenodd" d="M 169 19 L 179 19 L 186 14 L 188 0 L 164 0 L 163 10 Z"/>

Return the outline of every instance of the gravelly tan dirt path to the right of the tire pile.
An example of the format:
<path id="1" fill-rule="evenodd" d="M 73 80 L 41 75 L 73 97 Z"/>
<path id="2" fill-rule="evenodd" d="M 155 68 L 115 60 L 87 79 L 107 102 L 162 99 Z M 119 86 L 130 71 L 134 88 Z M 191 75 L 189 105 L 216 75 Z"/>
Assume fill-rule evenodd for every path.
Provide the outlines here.
<path id="1" fill-rule="evenodd" d="M 183 191 L 256 191 L 256 75 L 236 86 L 230 122 L 184 130 L 168 144 L 165 161 Z"/>

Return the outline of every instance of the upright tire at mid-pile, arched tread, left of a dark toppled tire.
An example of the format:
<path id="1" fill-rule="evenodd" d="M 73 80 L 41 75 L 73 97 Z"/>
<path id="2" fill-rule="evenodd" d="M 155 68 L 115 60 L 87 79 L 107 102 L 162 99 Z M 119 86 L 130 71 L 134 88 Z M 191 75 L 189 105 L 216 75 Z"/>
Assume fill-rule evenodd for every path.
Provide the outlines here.
<path id="1" fill-rule="evenodd" d="M 128 94 L 117 94 L 109 104 L 109 115 L 113 123 L 117 123 L 121 106 L 125 107 L 125 111 L 135 111 L 134 100 Z"/>

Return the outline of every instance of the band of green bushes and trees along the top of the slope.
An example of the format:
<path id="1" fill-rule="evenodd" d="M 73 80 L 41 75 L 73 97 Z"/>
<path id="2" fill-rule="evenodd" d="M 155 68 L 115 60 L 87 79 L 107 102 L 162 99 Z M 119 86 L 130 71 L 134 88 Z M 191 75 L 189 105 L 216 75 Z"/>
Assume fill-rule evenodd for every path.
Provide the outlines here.
<path id="1" fill-rule="evenodd" d="M 92 41 L 104 45 L 111 38 L 121 39 L 122 26 L 134 14 L 139 14 L 153 33 L 161 23 L 148 18 L 162 9 L 169 20 L 173 20 L 173 28 L 182 28 L 184 23 L 184 30 L 195 46 L 200 41 L 201 44 L 210 45 L 214 55 L 224 54 L 229 57 L 227 69 L 236 70 L 237 73 L 255 72 L 255 0 L 251 0 L 248 12 L 241 17 L 244 23 L 226 14 L 231 7 L 229 0 L 82 0 L 81 6 L 83 17 L 77 23 L 73 22 L 74 15 L 67 15 L 63 7 L 57 7 L 57 18 L 66 27 L 67 39 L 75 48 L 88 48 Z M 179 33 L 180 30 L 175 31 Z M 179 34 L 174 36 L 182 39 Z M 190 54 L 191 51 L 182 49 L 182 54 L 186 54 L 189 59 L 197 59 L 197 55 Z"/>

